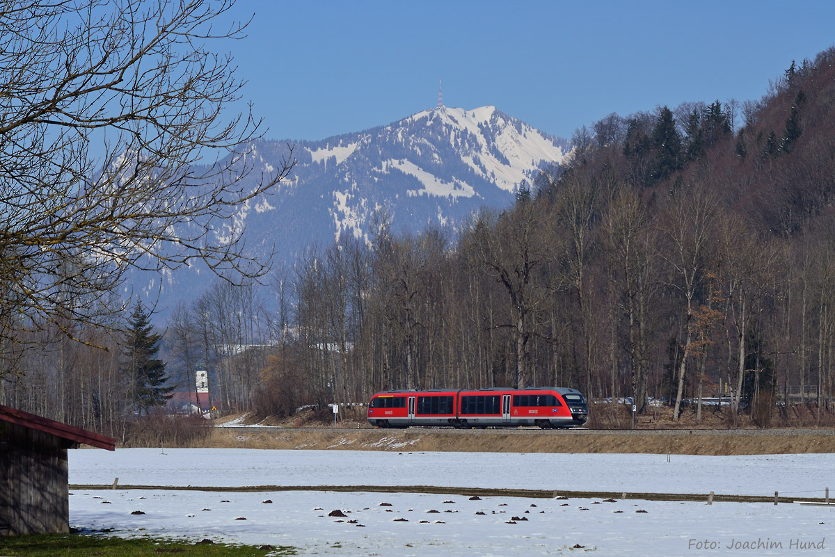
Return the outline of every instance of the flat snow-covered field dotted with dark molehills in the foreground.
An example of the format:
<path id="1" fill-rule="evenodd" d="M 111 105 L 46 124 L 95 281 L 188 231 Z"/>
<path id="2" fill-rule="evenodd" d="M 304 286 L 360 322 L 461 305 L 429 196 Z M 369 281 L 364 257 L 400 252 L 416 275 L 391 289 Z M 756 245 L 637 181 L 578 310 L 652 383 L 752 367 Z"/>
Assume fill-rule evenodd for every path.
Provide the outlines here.
<path id="1" fill-rule="evenodd" d="M 112 484 L 119 477 L 119 484 L 135 485 L 436 485 L 704 494 L 778 490 L 798 497 L 822 497 L 827 486 L 835 488 L 832 454 L 672 455 L 667 462 L 666 455 L 657 454 L 80 449 L 70 451 L 69 469 L 71 484 Z M 346 516 L 328 516 L 336 509 Z M 119 535 L 293 545 L 302 555 L 463 557 L 588 550 L 603 555 L 826 555 L 835 548 L 833 508 L 620 498 L 74 490 L 70 524 L 113 528 Z"/>

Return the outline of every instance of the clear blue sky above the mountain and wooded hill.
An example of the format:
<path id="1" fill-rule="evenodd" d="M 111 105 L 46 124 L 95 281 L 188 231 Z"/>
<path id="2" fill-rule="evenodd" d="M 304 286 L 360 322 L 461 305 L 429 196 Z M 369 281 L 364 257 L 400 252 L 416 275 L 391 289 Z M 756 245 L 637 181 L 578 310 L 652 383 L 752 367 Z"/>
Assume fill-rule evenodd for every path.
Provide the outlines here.
<path id="1" fill-rule="evenodd" d="M 223 43 L 266 138 L 323 139 L 438 103 L 569 138 L 608 113 L 761 98 L 835 45 L 835 3 L 238 0 Z M 221 45 L 219 45 L 221 46 Z"/>

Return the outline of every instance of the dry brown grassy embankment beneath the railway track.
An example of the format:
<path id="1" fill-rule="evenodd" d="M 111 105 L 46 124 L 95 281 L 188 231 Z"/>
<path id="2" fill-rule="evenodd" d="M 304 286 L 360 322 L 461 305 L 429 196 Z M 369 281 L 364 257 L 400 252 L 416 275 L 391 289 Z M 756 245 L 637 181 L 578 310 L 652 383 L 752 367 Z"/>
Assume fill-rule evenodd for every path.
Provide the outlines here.
<path id="1" fill-rule="evenodd" d="M 835 430 L 215 428 L 200 446 L 485 453 L 803 454 L 835 453 Z"/>

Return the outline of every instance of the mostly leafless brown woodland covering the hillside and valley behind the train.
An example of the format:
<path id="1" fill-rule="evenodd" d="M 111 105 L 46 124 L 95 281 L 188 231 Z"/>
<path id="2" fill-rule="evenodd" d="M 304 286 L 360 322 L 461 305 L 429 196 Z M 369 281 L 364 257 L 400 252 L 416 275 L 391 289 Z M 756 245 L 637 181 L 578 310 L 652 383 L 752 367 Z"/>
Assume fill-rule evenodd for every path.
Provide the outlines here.
<path id="1" fill-rule="evenodd" d="M 195 293 L 171 316 L 169 369 L 194 389 L 208 368 L 223 410 L 260 414 L 382 389 L 563 385 L 639 412 L 663 399 L 676 417 L 721 394 L 757 424 L 791 420 L 792 404 L 831 418 L 832 129 L 835 49 L 791 63 L 759 101 L 610 114 L 574 134 L 568 164 L 454 237 L 381 218 L 370 243 L 311 246 L 266 286 Z M 129 407 L 118 350 L 84 333 L 90 346 L 31 356 L 27 388 L 4 381 L 0 402 L 113 431 Z"/>

